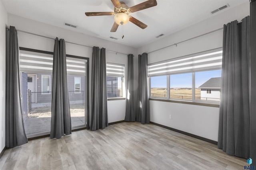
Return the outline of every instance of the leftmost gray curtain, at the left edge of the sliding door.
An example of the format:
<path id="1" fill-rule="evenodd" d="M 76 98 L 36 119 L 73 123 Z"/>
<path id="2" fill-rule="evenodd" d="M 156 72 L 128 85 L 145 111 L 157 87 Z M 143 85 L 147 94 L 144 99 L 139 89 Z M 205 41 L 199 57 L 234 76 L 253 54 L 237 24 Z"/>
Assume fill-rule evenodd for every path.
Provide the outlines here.
<path id="1" fill-rule="evenodd" d="M 10 26 L 6 29 L 6 148 L 25 143 L 28 139 L 22 119 L 18 36 L 15 27 Z"/>

